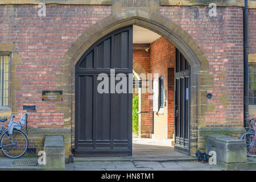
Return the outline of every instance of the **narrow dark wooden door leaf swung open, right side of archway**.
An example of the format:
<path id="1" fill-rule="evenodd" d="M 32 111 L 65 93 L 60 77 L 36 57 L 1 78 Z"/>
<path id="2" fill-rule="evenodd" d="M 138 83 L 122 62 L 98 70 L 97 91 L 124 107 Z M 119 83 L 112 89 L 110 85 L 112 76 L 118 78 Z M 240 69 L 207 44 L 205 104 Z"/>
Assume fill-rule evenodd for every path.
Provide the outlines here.
<path id="1" fill-rule="evenodd" d="M 176 49 L 175 68 L 175 150 L 190 154 L 189 111 L 190 111 L 190 66 L 185 57 Z"/>

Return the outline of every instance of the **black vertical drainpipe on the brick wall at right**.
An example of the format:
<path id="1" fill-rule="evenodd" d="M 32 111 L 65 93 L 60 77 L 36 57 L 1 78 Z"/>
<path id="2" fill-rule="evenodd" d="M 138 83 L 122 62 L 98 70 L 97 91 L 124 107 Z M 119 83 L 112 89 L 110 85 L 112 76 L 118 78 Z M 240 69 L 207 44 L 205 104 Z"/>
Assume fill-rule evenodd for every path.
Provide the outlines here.
<path id="1" fill-rule="evenodd" d="M 243 119 L 244 127 L 248 130 L 249 126 L 249 66 L 248 66 L 248 0 L 245 0 L 243 8 Z"/>

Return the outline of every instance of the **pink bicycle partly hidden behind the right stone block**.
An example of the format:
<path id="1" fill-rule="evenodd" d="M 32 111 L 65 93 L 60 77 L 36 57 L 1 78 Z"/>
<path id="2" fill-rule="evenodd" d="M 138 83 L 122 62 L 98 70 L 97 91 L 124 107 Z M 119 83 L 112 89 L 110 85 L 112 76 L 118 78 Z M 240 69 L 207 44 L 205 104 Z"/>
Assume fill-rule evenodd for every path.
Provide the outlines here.
<path id="1" fill-rule="evenodd" d="M 256 156 L 256 126 L 255 126 L 255 118 L 250 120 L 249 130 L 246 133 L 242 134 L 240 139 L 246 140 L 246 151 L 247 156 L 255 157 Z"/>

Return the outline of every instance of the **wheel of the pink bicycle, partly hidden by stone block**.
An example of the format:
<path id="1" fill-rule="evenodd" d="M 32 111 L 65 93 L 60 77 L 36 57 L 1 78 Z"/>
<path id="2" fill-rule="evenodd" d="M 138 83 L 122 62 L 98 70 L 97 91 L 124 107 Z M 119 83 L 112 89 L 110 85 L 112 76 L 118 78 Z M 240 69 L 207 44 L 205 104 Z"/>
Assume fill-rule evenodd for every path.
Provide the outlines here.
<path id="1" fill-rule="evenodd" d="M 247 156 L 255 157 L 256 156 L 256 142 L 254 142 L 254 133 L 253 132 L 246 132 L 241 135 L 241 140 L 245 140 L 246 142 L 246 150 Z"/>

